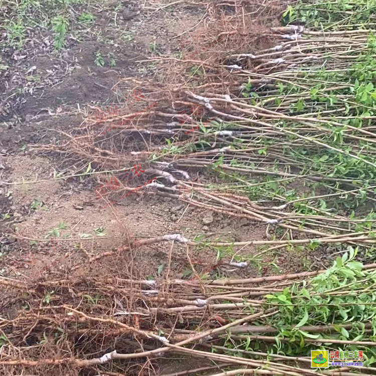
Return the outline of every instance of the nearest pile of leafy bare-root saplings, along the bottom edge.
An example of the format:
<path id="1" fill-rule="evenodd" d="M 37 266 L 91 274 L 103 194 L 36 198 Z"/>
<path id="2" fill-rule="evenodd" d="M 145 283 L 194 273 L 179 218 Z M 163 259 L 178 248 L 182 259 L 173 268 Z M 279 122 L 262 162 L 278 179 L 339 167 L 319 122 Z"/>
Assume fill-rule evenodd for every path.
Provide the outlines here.
<path id="1" fill-rule="evenodd" d="M 355 261 L 356 252 L 350 247 L 328 270 L 260 278 L 11 281 L 9 301 L 22 309 L 2 319 L 0 364 L 13 374 L 166 374 L 160 357 L 179 354 L 203 360 L 187 361 L 184 374 L 297 375 L 312 374 L 310 349 L 361 350 L 372 364 L 376 264 Z M 359 370 L 376 368 L 323 374 Z"/>

